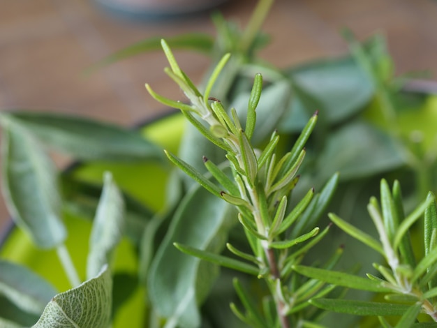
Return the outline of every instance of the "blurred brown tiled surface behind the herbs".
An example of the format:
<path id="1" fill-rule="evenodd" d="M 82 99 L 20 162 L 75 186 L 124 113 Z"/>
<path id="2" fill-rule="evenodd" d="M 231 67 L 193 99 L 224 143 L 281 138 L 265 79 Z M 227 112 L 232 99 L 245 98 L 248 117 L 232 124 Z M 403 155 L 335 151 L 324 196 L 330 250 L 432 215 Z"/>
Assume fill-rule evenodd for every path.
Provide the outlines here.
<path id="1" fill-rule="evenodd" d="M 165 96 L 182 96 L 163 73 L 167 64 L 162 52 L 142 54 L 87 77 L 83 70 L 143 38 L 188 31 L 214 33 L 209 19 L 213 9 L 204 8 L 205 4 L 215 4 L 214 9 L 238 24 L 246 23 L 255 6 L 255 0 L 190 0 L 182 10 L 202 11 L 179 16 L 182 0 L 169 1 L 170 9 L 156 7 L 166 2 L 162 0 L 144 0 L 155 3 L 149 8 L 141 0 L 112 1 L 121 7 L 103 6 L 105 0 L 1 1 L 0 110 L 62 112 L 124 126 L 156 117 L 167 109 L 147 94 L 145 82 Z M 123 8 L 149 15 L 133 18 L 121 13 Z M 165 10 L 171 10 L 172 17 L 156 16 Z M 436 18 L 434 0 L 276 0 L 265 22 L 272 43 L 262 57 L 286 67 L 339 56 L 347 52 L 339 29 L 348 27 L 360 39 L 384 33 L 397 73 L 428 70 L 436 80 Z M 186 73 L 200 82 L 207 58 L 191 52 L 175 54 Z M 1 200 L 0 231 L 7 222 Z"/>

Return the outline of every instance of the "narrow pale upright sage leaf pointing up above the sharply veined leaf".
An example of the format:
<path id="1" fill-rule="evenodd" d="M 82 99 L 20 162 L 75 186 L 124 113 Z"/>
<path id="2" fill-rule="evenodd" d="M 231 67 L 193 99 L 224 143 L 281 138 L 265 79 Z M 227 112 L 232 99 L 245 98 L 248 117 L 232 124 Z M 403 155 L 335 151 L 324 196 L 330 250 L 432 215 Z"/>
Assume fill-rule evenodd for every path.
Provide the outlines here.
<path id="1" fill-rule="evenodd" d="M 105 183 L 98 202 L 87 259 L 87 278 L 96 276 L 104 264 L 111 264 L 114 249 L 124 231 L 124 201 L 112 175 L 105 172 Z"/>

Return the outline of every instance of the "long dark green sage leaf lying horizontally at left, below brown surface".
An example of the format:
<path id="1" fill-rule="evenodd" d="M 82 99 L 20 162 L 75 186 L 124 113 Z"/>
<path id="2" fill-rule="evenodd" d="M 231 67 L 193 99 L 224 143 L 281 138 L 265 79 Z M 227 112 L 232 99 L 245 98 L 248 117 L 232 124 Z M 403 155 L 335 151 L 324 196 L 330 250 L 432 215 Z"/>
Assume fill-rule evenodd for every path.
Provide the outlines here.
<path id="1" fill-rule="evenodd" d="M 137 131 L 85 117 L 44 112 L 8 112 L 3 125 L 20 126 L 40 142 L 78 159 L 107 161 L 163 160 L 160 147 Z"/>

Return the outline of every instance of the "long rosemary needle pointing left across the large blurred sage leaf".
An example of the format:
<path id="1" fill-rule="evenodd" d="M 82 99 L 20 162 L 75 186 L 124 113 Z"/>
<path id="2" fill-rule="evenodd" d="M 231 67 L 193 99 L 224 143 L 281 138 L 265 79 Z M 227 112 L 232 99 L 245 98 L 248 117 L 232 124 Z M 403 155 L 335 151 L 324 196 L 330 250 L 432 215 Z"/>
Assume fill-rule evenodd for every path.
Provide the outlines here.
<path id="1" fill-rule="evenodd" d="M 260 269 L 246 262 L 235 260 L 233 258 L 228 258 L 226 256 L 219 255 L 216 253 L 202 251 L 201 249 L 193 248 L 191 246 L 186 246 L 179 243 L 173 243 L 173 245 L 175 245 L 175 247 L 179 249 L 179 251 L 182 251 L 183 253 L 195 256 L 196 258 L 200 258 L 201 260 L 205 260 L 208 262 L 212 262 L 214 264 L 221 265 L 222 267 L 228 267 L 230 269 L 242 271 L 245 272 L 246 274 L 253 274 L 254 276 L 258 276 L 260 272 Z"/>

